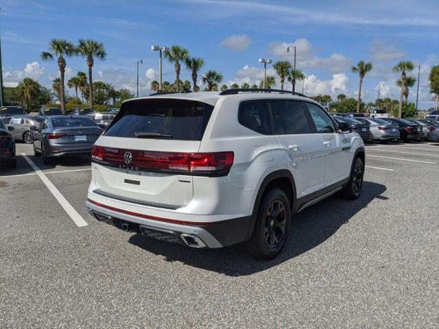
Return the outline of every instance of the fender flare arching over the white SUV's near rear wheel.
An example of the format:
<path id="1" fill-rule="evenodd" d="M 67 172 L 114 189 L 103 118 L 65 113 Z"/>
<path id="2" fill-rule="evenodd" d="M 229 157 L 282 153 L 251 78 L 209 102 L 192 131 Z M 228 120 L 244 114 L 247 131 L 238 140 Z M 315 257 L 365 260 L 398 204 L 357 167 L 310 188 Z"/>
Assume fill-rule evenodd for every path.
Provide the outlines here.
<path id="1" fill-rule="evenodd" d="M 292 186 L 293 189 L 293 195 L 292 195 L 292 215 L 294 215 L 297 211 L 297 198 L 296 198 L 296 182 L 294 182 L 293 175 L 291 171 L 287 169 L 281 169 L 273 171 L 272 173 L 269 173 L 265 178 L 263 179 L 261 186 L 259 186 L 258 194 L 256 199 L 254 200 L 253 205 L 253 211 L 250 219 L 250 225 L 248 227 L 248 232 L 246 234 L 246 241 L 250 240 L 253 234 L 254 226 L 256 224 L 259 205 L 261 204 L 263 194 L 265 192 L 265 189 L 267 188 L 268 184 L 273 182 L 274 180 L 277 180 L 279 178 L 287 178 Z"/>

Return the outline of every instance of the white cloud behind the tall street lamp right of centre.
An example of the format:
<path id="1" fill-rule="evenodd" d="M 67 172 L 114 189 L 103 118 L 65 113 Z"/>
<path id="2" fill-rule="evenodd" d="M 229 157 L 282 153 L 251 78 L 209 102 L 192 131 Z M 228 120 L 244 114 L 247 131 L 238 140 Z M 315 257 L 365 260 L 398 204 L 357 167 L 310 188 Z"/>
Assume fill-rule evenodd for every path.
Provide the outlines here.
<path id="1" fill-rule="evenodd" d="M 313 53 L 311 43 L 305 38 L 296 39 L 294 42 L 272 42 L 268 46 L 273 56 L 283 60 L 294 60 L 294 49 L 290 48 L 287 53 L 287 47 L 296 46 L 296 67 L 298 69 L 327 69 L 331 73 L 340 73 L 351 66 L 351 58 L 344 56 L 342 53 L 333 53 L 327 58 L 320 58 Z"/>

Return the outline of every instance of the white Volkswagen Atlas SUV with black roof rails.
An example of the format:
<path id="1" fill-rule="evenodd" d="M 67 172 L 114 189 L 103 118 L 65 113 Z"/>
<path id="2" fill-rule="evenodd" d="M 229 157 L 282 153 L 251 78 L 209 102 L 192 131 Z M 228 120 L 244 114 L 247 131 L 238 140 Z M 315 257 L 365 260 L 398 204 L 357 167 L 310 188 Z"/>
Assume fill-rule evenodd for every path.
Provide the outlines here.
<path id="1" fill-rule="evenodd" d="M 364 174 L 361 137 L 290 94 L 233 89 L 123 102 L 93 145 L 89 212 L 156 239 L 246 242 L 273 258 L 296 212 L 337 191 L 356 199 Z"/>

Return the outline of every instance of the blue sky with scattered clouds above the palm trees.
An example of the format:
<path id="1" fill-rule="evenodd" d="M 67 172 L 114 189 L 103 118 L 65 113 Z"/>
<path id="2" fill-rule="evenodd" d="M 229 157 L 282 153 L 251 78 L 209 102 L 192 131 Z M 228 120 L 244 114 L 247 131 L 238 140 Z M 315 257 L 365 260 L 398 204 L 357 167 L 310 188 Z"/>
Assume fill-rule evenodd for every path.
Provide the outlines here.
<path id="1" fill-rule="evenodd" d="M 108 53 L 104 62 L 95 62 L 95 80 L 134 91 L 136 63 L 142 59 L 141 95 L 148 95 L 150 81 L 158 80 L 153 44 L 189 49 L 206 61 L 203 71 L 221 72 L 226 84 L 259 82 L 263 73 L 258 58 L 292 60 L 285 47 L 294 44 L 297 68 L 308 75 L 308 95 L 355 97 L 358 76 L 351 66 L 369 60 L 374 69 L 364 80 L 366 101 L 377 98 L 379 84 L 381 97 L 398 98 L 392 66 L 412 60 L 420 65 L 421 108 L 433 106 L 428 74 L 439 64 L 439 6 L 429 0 L 1 0 L 0 33 L 5 81 L 29 76 L 50 86 L 59 75 L 56 62 L 40 59 L 50 38 L 94 38 L 104 42 Z M 69 58 L 67 65 L 67 77 L 86 71 L 83 58 Z M 190 80 L 185 69 L 182 78 Z M 169 63 L 164 64 L 164 79 L 175 79 Z M 415 97 L 413 88 L 410 99 Z"/>

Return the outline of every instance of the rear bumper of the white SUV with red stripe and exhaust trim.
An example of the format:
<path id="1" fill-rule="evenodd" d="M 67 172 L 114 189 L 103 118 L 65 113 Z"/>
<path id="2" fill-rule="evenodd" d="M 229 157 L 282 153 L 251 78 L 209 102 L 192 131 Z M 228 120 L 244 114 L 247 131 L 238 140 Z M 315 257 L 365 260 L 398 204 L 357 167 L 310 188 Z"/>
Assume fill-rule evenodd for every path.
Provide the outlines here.
<path id="1" fill-rule="evenodd" d="M 115 202 L 115 206 L 108 206 L 108 203 L 102 204 L 90 198 L 86 201 L 86 207 L 99 221 L 138 231 L 154 239 L 197 248 L 219 248 L 244 242 L 251 218 L 238 217 L 204 223 L 179 221 L 125 210 L 119 202 Z"/>

